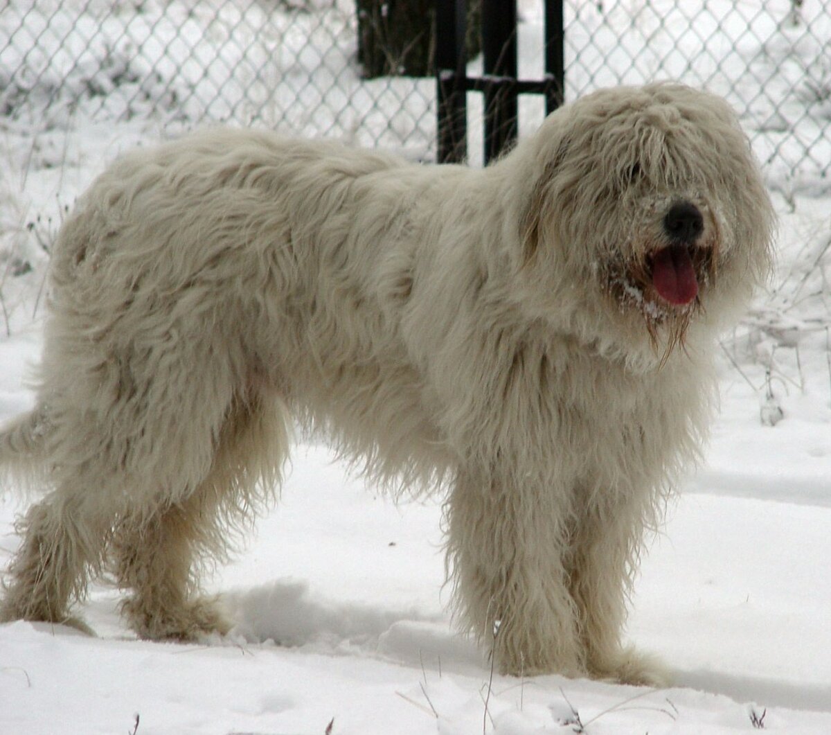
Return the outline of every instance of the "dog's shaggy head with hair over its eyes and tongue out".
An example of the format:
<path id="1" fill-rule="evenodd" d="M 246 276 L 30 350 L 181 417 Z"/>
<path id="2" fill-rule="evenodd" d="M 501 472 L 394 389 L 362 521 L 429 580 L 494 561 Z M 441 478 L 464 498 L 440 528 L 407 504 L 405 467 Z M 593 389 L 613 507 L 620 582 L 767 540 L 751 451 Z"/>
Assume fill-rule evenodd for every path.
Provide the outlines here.
<path id="1" fill-rule="evenodd" d="M 671 84 L 597 91 L 555 111 L 512 158 L 527 181 L 526 277 L 549 289 L 550 313 L 568 303 L 585 313 L 589 333 L 594 323 L 666 358 L 692 324 L 744 308 L 770 268 L 770 199 L 716 96 Z"/>

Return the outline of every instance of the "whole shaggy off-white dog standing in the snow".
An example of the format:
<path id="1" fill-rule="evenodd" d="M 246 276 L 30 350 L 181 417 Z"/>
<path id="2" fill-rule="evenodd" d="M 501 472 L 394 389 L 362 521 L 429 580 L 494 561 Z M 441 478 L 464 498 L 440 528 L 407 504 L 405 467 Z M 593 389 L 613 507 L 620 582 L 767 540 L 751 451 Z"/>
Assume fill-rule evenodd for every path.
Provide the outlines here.
<path id="1" fill-rule="evenodd" d="M 658 681 L 627 593 L 772 220 L 733 112 L 676 85 L 564 106 L 484 170 L 264 131 L 125 156 L 61 229 L 37 407 L 0 434 L 49 489 L 0 619 L 67 621 L 107 571 L 143 637 L 227 630 L 199 561 L 297 420 L 449 487 L 456 613 L 500 670 Z"/>

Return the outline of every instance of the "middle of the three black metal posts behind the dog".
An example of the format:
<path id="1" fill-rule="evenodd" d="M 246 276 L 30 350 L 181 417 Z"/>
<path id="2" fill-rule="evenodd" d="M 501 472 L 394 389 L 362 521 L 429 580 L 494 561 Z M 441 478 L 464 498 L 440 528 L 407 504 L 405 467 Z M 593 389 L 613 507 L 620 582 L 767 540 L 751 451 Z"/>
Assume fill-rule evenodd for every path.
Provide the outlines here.
<path id="1" fill-rule="evenodd" d="M 482 0 L 484 53 L 484 160 L 493 160 L 516 140 L 517 3 Z"/>

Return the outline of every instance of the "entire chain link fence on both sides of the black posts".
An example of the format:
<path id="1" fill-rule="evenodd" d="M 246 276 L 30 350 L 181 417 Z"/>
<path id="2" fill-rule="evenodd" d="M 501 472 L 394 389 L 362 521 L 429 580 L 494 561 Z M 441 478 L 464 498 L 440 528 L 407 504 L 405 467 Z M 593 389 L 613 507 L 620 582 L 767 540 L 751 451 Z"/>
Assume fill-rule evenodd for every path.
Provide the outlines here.
<path id="1" fill-rule="evenodd" d="M 232 121 L 435 159 L 435 81 L 363 78 L 353 0 L 2 2 L 0 130 Z M 520 0 L 519 16 L 520 76 L 538 78 L 542 2 Z M 565 21 L 567 100 L 661 78 L 706 86 L 740 112 L 773 185 L 827 188 L 831 0 L 568 0 Z M 521 131 L 541 109 L 521 106 Z"/>

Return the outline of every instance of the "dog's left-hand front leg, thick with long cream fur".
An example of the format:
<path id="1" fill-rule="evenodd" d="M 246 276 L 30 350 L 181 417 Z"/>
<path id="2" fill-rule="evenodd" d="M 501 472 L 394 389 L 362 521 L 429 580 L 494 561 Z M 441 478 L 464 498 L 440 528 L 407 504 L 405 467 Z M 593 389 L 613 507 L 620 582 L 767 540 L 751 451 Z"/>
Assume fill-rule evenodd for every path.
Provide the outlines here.
<path id="1" fill-rule="evenodd" d="M 586 673 L 568 585 L 568 496 L 470 472 L 447 504 L 456 609 L 502 673 Z"/>

